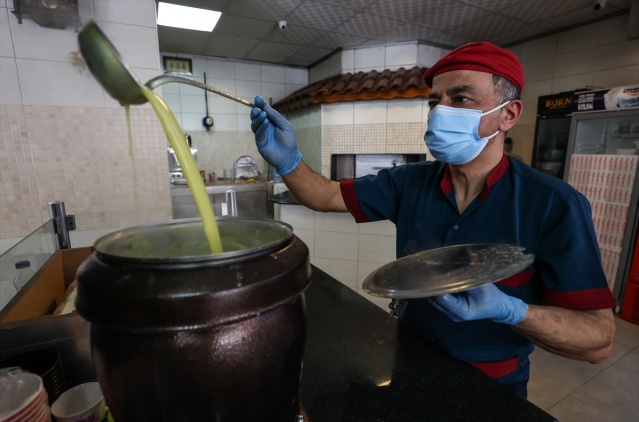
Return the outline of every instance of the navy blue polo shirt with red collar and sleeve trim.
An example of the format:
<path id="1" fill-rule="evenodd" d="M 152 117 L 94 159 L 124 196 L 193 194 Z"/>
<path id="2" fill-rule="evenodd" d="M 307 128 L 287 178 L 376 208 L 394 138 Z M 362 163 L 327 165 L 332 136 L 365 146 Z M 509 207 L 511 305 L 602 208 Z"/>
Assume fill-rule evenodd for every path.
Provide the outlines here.
<path id="1" fill-rule="evenodd" d="M 480 195 L 459 214 L 448 166 L 411 163 L 377 176 L 341 182 L 357 222 L 390 220 L 397 257 L 466 243 L 507 243 L 535 261 L 497 286 L 529 304 L 575 310 L 614 308 L 601 266 L 590 204 L 562 180 L 506 155 Z M 469 363 L 511 362 L 514 371 L 481 370 L 508 384 L 528 380 L 533 345 L 507 325 L 489 320 L 453 322 L 428 299 L 412 299 L 402 317 L 411 329 Z M 482 366 L 482 365 L 479 365 Z M 490 366 L 490 364 L 488 365 Z"/>

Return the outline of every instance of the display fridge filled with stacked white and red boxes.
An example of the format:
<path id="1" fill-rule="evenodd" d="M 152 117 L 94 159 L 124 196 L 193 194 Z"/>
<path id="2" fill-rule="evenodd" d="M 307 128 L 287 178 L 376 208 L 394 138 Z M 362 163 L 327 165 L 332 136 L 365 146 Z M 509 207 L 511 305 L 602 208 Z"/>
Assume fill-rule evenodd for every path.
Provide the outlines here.
<path id="1" fill-rule="evenodd" d="M 621 101 L 628 93 L 638 101 Z M 573 108 L 564 179 L 590 201 L 608 285 L 621 303 L 639 218 L 639 85 L 575 94 Z"/>

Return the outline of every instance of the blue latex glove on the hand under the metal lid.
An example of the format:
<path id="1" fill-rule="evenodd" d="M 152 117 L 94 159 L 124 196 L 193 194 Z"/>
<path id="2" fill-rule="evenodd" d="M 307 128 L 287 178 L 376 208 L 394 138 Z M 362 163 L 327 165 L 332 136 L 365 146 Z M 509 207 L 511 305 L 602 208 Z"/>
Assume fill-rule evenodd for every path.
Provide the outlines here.
<path id="1" fill-rule="evenodd" d="M 486 284 L 461 293 L 436 296 L 432 305 L 453 321 L 490 319 L 502 324 L 519 324 L 528 305 L 502 292 L 494 284 Z"/>

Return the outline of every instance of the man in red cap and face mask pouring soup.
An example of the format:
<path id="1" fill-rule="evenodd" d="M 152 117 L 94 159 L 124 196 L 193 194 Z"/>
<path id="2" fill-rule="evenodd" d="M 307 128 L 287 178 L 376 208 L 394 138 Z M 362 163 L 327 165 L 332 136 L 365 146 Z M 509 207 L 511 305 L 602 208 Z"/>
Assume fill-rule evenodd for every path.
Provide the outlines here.
<path id="1" fill-rule="evenodd" d="M 535 254 L 527 270 L 467 292 L 408 301 L 402 321 L 452 356 L 526 396 L 536 344 L 598 363 L 612 351 L 616 306 L 586 198 L 504 154 L 522 113 L 523 68 L 490 43 L 459 47 L 428 69 L 424 135 L 435 162 L 332 182 L 310 170 L 293 129 L 257 97 L 251 127 L 260 153 L 317 211 L 396 225 L 397 257 L 455 244 L 508 243 Z"/>

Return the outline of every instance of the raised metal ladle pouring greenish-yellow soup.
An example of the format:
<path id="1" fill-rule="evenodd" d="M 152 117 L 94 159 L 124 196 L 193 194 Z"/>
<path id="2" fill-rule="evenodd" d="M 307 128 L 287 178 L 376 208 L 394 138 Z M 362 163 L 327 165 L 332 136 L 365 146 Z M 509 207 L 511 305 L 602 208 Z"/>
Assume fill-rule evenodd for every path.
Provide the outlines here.
<path id="1" fill-rule="evenodd" d="M 109 95 L 119 101 L 123 106 L 129 104 L 144 104 L 147 102 L 146 97 L 144 97 L 140 89 L 142 83 L 122 61 L 118 51 L 95 22 L 90 21 L 82 28 L 78 35 L 78 41 L 80 52 L 89 70 Z M 253 107 L 252 103 L 243 98 L 183 76 L 156 76 L 150 79 L 144 86 L 153 90 L 169 82 L 193 85 L 237 101 L 248 107 Z"/>

